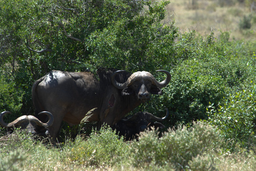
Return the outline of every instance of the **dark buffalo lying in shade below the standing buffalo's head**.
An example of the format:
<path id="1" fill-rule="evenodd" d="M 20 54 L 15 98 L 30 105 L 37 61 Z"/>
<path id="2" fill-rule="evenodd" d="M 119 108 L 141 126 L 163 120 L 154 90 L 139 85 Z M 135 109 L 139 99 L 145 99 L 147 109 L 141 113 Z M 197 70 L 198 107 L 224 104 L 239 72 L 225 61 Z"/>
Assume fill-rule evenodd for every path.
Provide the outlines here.
<path id="1" fill-rule="evenodd" d="M 166 109 L 165 117 L 157 117 L 149 112 L 138 112 L 127 119 L 121 119 L 113 126 L 119 136 L 125 137 L 126 141 L 133 140 L 138 137 L 139 133 L 145 131 L 147 128 L 163 129 L 165 125 L 158 121 L 163 121 L 169 116 L 169 111 Z"/>

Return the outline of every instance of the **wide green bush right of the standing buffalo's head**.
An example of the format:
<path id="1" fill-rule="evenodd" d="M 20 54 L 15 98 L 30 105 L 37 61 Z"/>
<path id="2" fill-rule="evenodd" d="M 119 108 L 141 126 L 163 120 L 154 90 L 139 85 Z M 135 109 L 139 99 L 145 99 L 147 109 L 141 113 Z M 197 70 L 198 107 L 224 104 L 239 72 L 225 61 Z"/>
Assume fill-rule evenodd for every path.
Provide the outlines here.
<path id="1" fill-rule="evenodd" d="M 254 44 L 233 48 L 235 44 L 226 38 L 229 35 L 223 36 L 215 40 L 213 34 L 205 39 L 199 39 L 194 32 L 182 35 L 175 55 L 183 60 L 169 69 L 170 84 L 163 88 L 162 96 L 153 97 L 141 110 L 164 112 L 167 107 L 171 113 L 167 124 L 171 127 L 177 122 L 207 119 L 209 104 L 218 108 L 232 89 L 243 86 L 248 79 L 254 80 L 255 58 L 245 56 L 246 52 L 253 54 Z"/>

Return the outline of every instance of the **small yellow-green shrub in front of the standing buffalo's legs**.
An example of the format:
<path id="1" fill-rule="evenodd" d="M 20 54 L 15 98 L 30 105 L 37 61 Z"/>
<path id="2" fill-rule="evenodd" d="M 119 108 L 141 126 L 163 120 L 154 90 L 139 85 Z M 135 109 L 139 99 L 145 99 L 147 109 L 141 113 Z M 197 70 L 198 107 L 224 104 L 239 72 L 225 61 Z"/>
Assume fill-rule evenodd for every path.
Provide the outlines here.
<path id="1" fill-rule="evenodd" d="M 93 131 L 86 141 L 78 137 L 69 158 L 87 166 L 104 166 L 109 165 L 113 157 L 126 152 L 123 139 L 119 139 L 110 127 L 103 126 L 99 132 Z"/>

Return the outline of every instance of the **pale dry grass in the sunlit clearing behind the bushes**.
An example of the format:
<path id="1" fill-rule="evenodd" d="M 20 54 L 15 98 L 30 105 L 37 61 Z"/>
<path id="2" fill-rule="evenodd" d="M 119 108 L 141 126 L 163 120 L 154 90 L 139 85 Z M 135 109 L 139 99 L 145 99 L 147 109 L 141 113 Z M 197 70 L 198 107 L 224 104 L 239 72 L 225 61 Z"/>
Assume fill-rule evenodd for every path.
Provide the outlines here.
<path id="1" fill-rule="evenodd" d="M 221 6 L 218 0 L 171 0 L 167 6 L 166 21 L 175 19 L 181 32 L 195 30 L 201 35 L 214 31 L 215 36 L 221 32 L 230 32 L 230 40 L 256 40 L 256 12 L 239 3 Z M 251 15 L 251 28 L 239 29 L 243 16 Z"/>

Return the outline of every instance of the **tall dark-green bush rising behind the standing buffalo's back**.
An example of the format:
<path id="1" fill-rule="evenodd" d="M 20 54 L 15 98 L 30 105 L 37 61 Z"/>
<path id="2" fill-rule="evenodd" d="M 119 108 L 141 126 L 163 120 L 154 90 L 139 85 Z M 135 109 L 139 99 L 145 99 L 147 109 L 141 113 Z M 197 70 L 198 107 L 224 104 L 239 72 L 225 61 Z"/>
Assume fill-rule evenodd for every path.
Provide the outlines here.
<path id="1" fill-rule="evenodd" d="M 171 59 L 174 52 L 171 46 L 178 31 L 174 23 L 164 26 L 161 22 L 168 3 L 135 0 L 0 2 L 3 26 L 0 28 L 3 48 L 0 54 L 9 59 L 1 60 L 3 63 L 11 61 L 13 67 L 18 63 L 15 71 L 20 86 L 31 86 L 33 80 L 53 69 L 152 70 L 156 62 L 159 66 L 154 66 L 153 70 L 162 68 Z"/>

